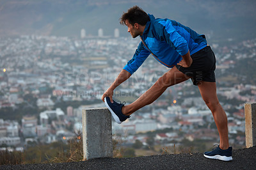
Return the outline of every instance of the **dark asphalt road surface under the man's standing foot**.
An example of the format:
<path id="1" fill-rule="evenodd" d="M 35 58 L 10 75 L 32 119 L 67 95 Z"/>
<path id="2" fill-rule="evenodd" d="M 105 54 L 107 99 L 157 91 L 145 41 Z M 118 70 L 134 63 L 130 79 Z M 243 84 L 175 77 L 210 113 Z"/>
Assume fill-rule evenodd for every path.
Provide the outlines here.
<path id="1" fill-rule="evenodd" d="M 256 146 L 233 150 L 233 160 L 205 158 L 203 153 L 153 155 L 135 158 L 95 158 L 58 164 L 4 165 L 0 169 L 256 169 Z"/>

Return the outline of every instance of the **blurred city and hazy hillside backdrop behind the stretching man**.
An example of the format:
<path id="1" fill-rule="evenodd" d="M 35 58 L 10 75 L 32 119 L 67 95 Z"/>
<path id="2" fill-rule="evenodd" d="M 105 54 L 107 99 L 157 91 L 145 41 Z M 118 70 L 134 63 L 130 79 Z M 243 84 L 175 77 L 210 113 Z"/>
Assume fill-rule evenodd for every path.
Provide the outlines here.
<path id="1" fill-rule="evenodd" d="M 44 162 L 51 155 L 45 150 L 81 140 L 82 109 L 105 107 L 102 94 L 140 43 L 119 24 L 134 5 L 205 34 L 217 59 L 230 145 L 244 148 L 243 106 L 256 102 L 256 1 L 2 0 L 1 150 L 29 150 L 35 153 L 29 158 L 43 155 Z M 114 98 L 133 102 L 167 71 L 149 56 Z M 219 142 L 211 111 L 190 80 L 168 88 L 121 125 L 113 121 L 113 139 L 132 157 L 202 152 Z"/>

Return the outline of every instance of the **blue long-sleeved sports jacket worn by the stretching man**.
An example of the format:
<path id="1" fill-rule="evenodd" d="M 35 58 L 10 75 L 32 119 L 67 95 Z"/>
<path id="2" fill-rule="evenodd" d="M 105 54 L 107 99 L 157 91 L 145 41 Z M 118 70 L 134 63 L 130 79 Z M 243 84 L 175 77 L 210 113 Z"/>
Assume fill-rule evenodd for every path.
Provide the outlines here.
<path id="1" fill-rule="evenodd" d="M 198 35 L 189 27 L 170 19 L 155 19 L 149 15 L 141 42 L 124 70 L 134 73 L 152 54 L 161 64 L 172 68 L 190 52 L 190 55 L 207 46 L 204 35 Z"/>

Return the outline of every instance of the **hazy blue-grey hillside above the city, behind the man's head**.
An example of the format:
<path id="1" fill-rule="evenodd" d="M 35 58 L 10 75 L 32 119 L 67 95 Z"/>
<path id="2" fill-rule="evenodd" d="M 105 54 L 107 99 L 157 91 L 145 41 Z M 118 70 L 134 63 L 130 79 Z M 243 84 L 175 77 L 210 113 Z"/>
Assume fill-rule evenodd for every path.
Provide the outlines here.
<path id="1" fill-rule="evenodd" d="M 118 19 L 134 5 L 155 17 L 177 20 L 219 39 L 256 37 L 253 0 L 2 0 L 0 37 L 31 34 L 79 37 L 82 28 L 86 29 L 86 35 L 97 35 L 100 27 L 104 35 L 113 35 L 113 30 L 119 28 L 120 35 L 128 36 Z"/>

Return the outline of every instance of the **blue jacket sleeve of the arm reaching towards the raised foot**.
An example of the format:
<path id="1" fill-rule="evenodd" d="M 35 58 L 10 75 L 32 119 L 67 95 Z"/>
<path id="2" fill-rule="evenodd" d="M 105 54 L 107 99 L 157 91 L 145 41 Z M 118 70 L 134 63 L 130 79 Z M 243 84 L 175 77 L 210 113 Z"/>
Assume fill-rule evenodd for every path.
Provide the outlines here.
<path id="1" fill-rule="evenodd" d="M 136 49 L 135 54 L 133 55 L 132 59 L 127 62 L 127 64 L 124 66 L 124 70 L 126 70 L 129 73 L 134 73 L 138 68 L 142 65 L 142 63 L 145 61 L 145 59 L 148 58 L 150 52 L 145 49 L 142 42 L 138 45 L 138 49 Z"/>

